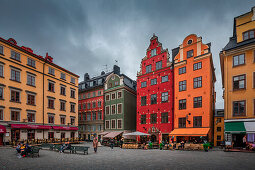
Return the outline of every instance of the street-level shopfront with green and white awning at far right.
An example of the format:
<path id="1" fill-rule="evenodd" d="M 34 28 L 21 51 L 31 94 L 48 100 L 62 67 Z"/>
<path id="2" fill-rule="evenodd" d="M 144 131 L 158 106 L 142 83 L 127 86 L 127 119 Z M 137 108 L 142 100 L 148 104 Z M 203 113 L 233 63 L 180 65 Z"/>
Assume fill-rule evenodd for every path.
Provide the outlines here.
<path id="1" fill-rule="evenodd" d="M 225 120 L 225 142 L 233 148 L 255 144 L 255 119 Z"/>

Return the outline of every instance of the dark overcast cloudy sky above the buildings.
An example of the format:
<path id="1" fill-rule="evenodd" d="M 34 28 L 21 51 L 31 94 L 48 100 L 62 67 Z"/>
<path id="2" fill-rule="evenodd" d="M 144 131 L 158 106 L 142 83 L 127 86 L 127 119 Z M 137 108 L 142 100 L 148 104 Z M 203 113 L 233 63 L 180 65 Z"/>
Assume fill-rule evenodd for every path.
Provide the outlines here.
<path id="1" fill-rule="evenodd" d="M 219 52 L 233 32 L 233 19 L 254 1 L 226 0 L 0 0 L 0 37 L 14 38 L 38 55 L 80 75 L 112 69 L 132 79 L 153 33 L 163 48 L 178 47 L 189 34 L 212 43 L 216 108 L 223 108 Z"/>

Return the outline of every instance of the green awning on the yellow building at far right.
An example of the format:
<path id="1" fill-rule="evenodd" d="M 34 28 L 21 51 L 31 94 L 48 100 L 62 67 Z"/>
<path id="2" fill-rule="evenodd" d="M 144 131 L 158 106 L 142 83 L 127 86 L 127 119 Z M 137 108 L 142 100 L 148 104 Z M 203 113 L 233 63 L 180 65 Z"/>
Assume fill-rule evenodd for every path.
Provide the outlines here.
<path id="1" fill-rule="evenodd" d="M 226 133 L 245 133 L 244 122 L 225 122 Z"/>

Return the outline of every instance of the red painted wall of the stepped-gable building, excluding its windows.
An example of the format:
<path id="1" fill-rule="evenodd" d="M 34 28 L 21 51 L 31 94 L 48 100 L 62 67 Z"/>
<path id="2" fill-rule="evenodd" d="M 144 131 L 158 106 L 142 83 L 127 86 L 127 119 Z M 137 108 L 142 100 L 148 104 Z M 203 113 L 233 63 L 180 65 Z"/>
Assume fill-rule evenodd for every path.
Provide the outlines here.
<path id="1" fill-rule="evenodd" d="M 156 48 L 156 55 L 151 57 L 151 50 Z M 163 50 L 158 37 L 151 38 L 147 55 L 142 59 L 141 72 L 137 76 L 137 131 L 148 133 L 155 126 L 160 133 L 170 133 L 173 130 L 173 69 L 169 62 L 168 50 Z M 156 62 L 162 60 L 162 69 L 156 70 Z M 146 74 L 146 66 L 152 65 L 152 72 Z M 168 76 L 168 81 L 162 83 L 161 77 Z M 151 85 L 151 79 L 157 78 L 157 84 Z M 141 88 L 141 82 L 147 82 L 147 87 Z M 161 93 L 168 92 L 168 102 L 161 102 Z M 151 94 L 157 94 L 157 104 L 151 104 Z M 141 106 L 141 97 L 147 96 L 146 106 Z M 168 112 L 168 123 L 161 123 L 161 113 Z M 157 123 L 150 123 L 150 115 L 157 113 Z M 141 115 L 146 114 L 146 124 L 141 124 Z M 161 135 L 160 134 L 160 135 Z"/>

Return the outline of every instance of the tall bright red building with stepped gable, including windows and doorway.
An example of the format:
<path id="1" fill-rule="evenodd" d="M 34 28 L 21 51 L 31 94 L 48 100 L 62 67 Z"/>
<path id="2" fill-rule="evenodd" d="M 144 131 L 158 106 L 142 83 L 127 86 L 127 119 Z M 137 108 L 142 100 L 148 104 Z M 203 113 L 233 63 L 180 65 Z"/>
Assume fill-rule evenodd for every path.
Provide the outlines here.
<path id="1" fill-rule="evenodd" d="M 153 35 L 137 73 L 137 131 L 152 142 L 169 141 L 173 130 L 173 69 L 168 49 Z"/>

